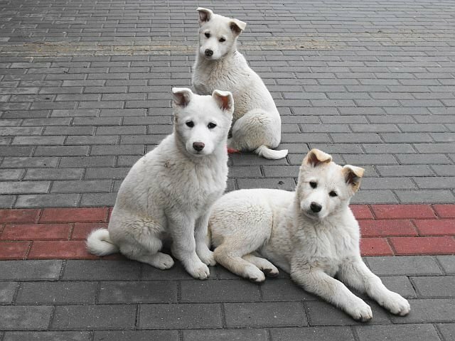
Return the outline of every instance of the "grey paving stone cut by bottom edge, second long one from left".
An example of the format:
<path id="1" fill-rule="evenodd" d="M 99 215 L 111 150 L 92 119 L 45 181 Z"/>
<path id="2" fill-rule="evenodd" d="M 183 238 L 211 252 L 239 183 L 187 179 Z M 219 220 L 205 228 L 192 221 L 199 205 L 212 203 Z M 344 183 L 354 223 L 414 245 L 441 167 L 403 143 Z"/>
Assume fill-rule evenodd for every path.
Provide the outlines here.
<path id="1" fill-rule="evenodd" d="M 95 330 L 93 341 L 178 341 L 177 330 Z"/>

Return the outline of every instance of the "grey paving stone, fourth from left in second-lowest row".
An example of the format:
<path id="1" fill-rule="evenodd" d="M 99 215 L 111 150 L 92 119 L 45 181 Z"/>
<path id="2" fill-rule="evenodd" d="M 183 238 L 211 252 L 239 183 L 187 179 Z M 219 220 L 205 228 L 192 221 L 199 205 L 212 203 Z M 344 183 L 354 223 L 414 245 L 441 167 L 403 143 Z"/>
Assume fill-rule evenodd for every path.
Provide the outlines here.
<path id="1" fill-rule="evenodd" d="M 301 327 L 308 325 L 299 302 L 224 303 L 226 327 Z"/>

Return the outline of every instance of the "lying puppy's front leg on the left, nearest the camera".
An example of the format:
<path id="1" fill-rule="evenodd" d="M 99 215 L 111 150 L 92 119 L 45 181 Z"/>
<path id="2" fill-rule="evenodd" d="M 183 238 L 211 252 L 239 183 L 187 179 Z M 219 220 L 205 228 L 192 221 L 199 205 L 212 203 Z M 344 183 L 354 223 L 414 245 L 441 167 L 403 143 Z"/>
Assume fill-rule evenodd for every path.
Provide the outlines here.
<path id="1" fill-rule="evenodd" d="M 346 286 L 335 278 L 328 276 L 322 269 L 291 264 L 291 278 L 309 293 L 321 296 L 324 300 L 336 305 L 354 320 L 368 321 L 373 318 L 370 306 L 355 296 Z"/>

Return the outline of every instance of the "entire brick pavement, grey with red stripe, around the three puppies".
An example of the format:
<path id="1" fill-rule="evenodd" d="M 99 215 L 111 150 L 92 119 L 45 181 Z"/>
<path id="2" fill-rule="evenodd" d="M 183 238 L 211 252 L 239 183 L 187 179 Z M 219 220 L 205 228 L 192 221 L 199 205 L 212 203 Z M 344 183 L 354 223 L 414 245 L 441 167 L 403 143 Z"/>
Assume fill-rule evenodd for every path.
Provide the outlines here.
<path id="1" fill-rule="evenodd" d="M 257 286 L 220 266 L 196 281 L 179 264 L 74 259 L 171 132 L 197 6 L 247 22 L 239 49 L 289 149 L 231 156 L 228 190 L 291 190 L 315 147 L 363 166 L 363 251 L 419 254 L 365 256 L 409 316 L 371 303 L 373 320 L 355 323 L 284 273 Z M 365 209 L 455 203 L 454 28 L 453 1 L 1 1 L 0 207 L 36 210 L 0 210 L 0 341 L 455 340 L 454 205 Z"/>

